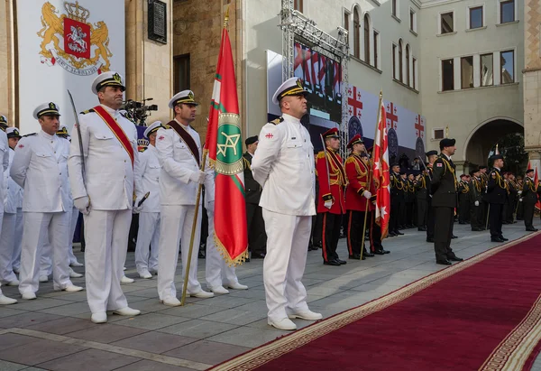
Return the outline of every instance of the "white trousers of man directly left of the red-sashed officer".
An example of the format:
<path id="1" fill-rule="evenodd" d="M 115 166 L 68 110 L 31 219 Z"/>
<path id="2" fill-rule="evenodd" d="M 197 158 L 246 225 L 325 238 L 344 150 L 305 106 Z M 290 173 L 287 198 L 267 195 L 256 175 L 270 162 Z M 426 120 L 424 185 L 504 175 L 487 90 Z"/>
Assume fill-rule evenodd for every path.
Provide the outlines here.
<path id="1" fill-rule="evenodd" d="M 73 283 L 69 280 L 68 251 L 69 231 L 67 212 L 25 212 L 21 274 L 19 292 L 37 292 L 40 287 L 41 250 L 49 232 L 52 250 L 52 275 L 54 290 L 62 290 Z"/>

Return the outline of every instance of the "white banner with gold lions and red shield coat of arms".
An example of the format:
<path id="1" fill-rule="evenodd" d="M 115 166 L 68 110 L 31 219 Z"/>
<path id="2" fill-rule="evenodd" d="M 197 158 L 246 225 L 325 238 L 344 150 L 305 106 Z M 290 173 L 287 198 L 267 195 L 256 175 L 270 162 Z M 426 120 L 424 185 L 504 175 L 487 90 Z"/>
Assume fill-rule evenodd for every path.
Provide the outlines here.
<path id="1" fill-rule="evenodd" d="M 125 76 L 124 1 L 24 0 L 17 4 L 19 127 L 40 130 L 32 110 L 45 101 L 60 106 L 73 125 L 67 89 L 78 110 L 96 105 L 90 86 L 102 72 Z"/>

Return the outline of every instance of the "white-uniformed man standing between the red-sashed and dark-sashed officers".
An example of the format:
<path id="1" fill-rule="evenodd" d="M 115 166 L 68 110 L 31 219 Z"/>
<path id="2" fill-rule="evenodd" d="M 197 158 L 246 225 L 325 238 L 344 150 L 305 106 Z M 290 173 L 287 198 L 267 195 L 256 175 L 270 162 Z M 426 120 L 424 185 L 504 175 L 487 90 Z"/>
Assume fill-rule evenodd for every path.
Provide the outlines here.
<path id="1" fill-rule="evenodd" d="M 139 166 L 135 169 L 137 199 L 142 199 L 146 192 L 150 192 L 139 211 L 139 230 L 135 245 L 135 266 L 141 278 L 152 278 L 151 272 L 158 272 L 161 165 L 156 150 L 156 134 L 160 127 L 163 127 L 161 121 L 156 121 L 144 131 L 143 135 L 149 140 L 149 145 L 143 153 L 139 153 Z"/>

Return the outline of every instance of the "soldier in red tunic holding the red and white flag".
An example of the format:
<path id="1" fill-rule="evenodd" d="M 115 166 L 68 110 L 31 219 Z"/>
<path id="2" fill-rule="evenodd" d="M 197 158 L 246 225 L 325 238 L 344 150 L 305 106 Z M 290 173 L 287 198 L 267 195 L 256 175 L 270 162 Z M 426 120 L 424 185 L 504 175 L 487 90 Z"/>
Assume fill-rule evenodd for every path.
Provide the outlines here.
<path id="1" fill-rule="evenodd" d="M 362 142 L 360 134 L 353 136 L 353 139 L 347 144 L 352 153 L 345 161 L 345 173 L 349 185 L 345 190 L 345 209 L 347 210 L 347 249 L 350 259 L 361 259 L 365 256 L 373 256 L 366 251 L 364 241 L 362 240 L 362 228 L 364 227 L 364 214 L 366 217 L 366 232 L 370 230 L 371 218 L 370 212 L 374 209 L 371 202 L 372 193 L 375 193 L 373 182 L 368 184 L 371 166 L 370 160 L 366 155 L 366 149 Z M 367 206 L 368 203 L 368 206 Z M 366 233 L 365 232 L 365 233 Z"/>

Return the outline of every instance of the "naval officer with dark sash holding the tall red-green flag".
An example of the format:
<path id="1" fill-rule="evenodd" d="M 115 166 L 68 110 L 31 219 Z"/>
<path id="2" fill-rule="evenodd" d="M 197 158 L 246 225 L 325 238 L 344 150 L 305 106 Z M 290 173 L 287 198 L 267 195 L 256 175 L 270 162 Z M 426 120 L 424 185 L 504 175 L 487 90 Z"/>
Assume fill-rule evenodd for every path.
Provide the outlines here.
<path id="1" fill-rule="evenodd" d="M 196 119 L 197 103 L 191 90 L 184 90 L 170 99 L 169 107 L 175 118 L 169 128 L 160 128 L 156 149 L 160 159 L 160 251 L 158 253 L 158 294 L 165 305 L 180 305 L 175 287 L 175 271 L 182 240 L 182 272 L 186 273 L 188 249 L 196 211 L 197 187 L 214 171 L 201 172 L 201 142 L 199 134 L 189 125 Z M 201 208 L 201 205 L 199 205 Z M 197 246 L 201 236 L 201 209 L 197 214 L 194 249 L 188 274 L 188 295 L 210 298 L 197 281 Z"/>

